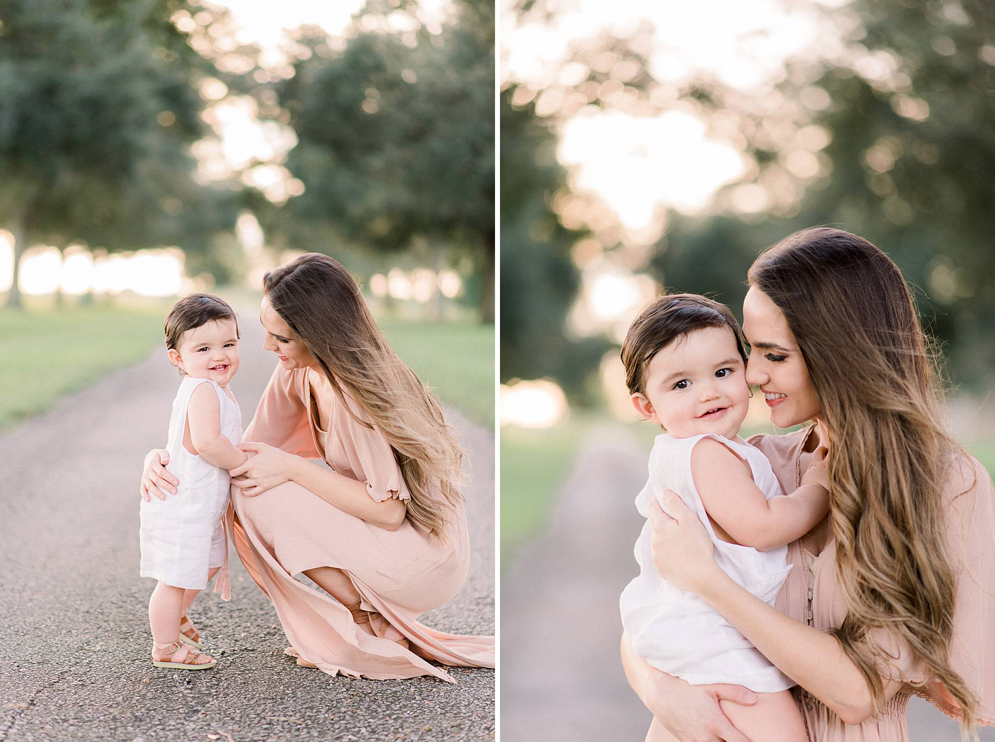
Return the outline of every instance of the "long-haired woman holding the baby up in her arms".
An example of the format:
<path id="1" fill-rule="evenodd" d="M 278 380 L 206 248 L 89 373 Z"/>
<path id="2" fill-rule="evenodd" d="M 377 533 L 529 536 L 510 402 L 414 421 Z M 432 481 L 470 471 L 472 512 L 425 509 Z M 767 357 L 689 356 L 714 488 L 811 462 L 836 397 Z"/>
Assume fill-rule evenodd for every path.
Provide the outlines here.
<path id="1" fill-rule="evenodd" d="M 815 228 L 761 254 L 749 284 L 747 381 L 778 428 L 818 423 L 751 443 L 785 491 L 828 446 L 830 513 L 789 547 L 778 610 L 716 567 L 697 518 L 670 492 L 674 517 L 653 511 L 657 570 L 798 682 L 813 742 L 906 740 L 912 693 L 965 729 L 995 723 L 995 495 L 987 471 L 942 429 L 898 269 L 862 238 Z M 624 638 L 622 653 L 654 712 L 648 739 L 747 742 L 721 712 L 751 702 L 745 688 L 688 685 Z"/>

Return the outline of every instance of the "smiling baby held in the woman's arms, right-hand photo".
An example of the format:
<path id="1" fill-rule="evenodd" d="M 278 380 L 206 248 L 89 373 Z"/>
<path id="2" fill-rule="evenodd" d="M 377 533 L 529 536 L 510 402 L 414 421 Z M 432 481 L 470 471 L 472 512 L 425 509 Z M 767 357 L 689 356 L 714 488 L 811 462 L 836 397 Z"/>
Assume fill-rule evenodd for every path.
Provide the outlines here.
<path id="1" fill-rule="evenodd" d="M 718 565 L 773 605 L 791 570 L 786 544 L 828 511 L 828 470 L 820 454 L 802 485 L 783 495 L 767 459 L 738 437 L 751 396 L 745 361 L 732 313 L 704 296 L 661 296 L 632 323 L 622 346 L 626 383 L 640 416 L 666 431 L 654 443 L 636 507 L 649 517 L 654 497 L 668 487 L 677 491 L 708 532 Z M 705 601 L 660 577 L 650 543 L 647 521 L 635 548 L 639 577 L 621 598 L 636 654 L 695 685 L 736 683 L 756 691 L 753 706 L 722 706 L 750 739 L 806 742 L 788 691 L 795 683 Z M 654 739 L 670 738 L 654 728 Z"/>

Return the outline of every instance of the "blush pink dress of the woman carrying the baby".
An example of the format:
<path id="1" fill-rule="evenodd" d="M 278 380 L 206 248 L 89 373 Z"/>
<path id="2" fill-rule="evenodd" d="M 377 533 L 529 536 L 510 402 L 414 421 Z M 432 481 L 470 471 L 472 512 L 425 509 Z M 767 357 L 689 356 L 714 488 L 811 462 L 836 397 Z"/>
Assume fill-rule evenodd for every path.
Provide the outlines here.
<path id="1" fill-rule="evenodd" d="M 811 454 L 803 451 L 811 431 L 809 428 L 787 436 L 749 439 L 770 461 L 785 492 L 801 484 L 801 474 L 811 462 Z M 950 660 L 953 669 L 981 699 L 981 723 L 995 724 L 995 491 L 981 464 L 961 458 L 950 474 L 946 495 L 948 544 L 959 574 Z M 847 608 L 836 576 L 835 541 L 830 539 L 818 555 L 795 541 L 788 546 L 788 560 L 794 569 L 778 595 L 777 609 L 821 631 L 839 627 Z M 907 648 L 899 647 L 885 635 L 882 640 L 895 657 L 892 676 L 908 681 L 928 680 Z M 811 742 L 907 742 L 905 708 L 913 693 L 957 718 L 952 699 L 938 683 L 902 685 L 875 716 L 861 724 L 845 724 L 799 686 L 793 693 Z"/>

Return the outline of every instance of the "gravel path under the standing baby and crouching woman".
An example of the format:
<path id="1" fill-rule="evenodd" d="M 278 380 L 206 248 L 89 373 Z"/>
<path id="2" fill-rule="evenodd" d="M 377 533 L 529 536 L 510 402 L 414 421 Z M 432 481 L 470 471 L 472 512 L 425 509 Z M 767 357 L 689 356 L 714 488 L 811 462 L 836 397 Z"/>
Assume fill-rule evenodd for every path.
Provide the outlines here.
<path id="1" fill-rule="evenodd" d="M 273 372 L 255 310 L 242 313 L 233 389 L 248 425 Z M 176 372 L 163 351 L 0 437 L 0 740 L 491 740 L 495 672 L 350 680 L 298 667 L 277 614 L 232 555 L 233 597 L 191 615 L 220 658 L 203 672 L 149 661 L 138 577 L 138 476 L 165 443 Z M 472 465 L 470 578 L 423 621 L 495 630 L 494 437 L 450 413 Z"/>

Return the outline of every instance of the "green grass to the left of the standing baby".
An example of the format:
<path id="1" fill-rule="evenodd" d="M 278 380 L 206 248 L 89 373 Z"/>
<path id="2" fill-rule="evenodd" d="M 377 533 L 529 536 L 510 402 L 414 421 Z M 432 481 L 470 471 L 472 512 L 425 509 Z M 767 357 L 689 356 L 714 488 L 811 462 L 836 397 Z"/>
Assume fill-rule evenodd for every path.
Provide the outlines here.
<path id="1" fill-rule="evenodd" d="M 0 431 L 137 363 L 161 343 L 169 302 L 0 308 Z"/>

